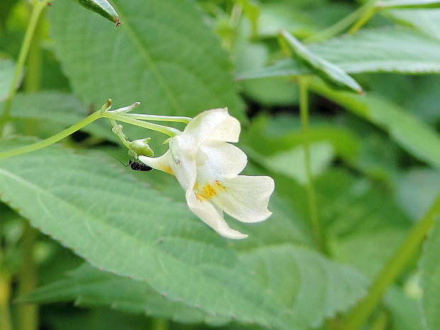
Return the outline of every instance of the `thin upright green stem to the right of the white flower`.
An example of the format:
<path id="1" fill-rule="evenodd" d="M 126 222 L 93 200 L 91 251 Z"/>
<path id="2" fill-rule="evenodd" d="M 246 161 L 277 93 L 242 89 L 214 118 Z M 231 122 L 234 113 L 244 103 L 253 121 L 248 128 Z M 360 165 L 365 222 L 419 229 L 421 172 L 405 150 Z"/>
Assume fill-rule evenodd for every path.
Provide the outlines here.
<path id="1" fill-rule="evenodd" d="M 312 224 L 312 233 L 314 241 L 320 251 L 324 251 L 323 235 L 317 209 L 317 198 L 314 192 L 312 170 L 310 167 L 310 148 L 309 148 L 309 101 L 308 86 L 309 77 L 298 77 L 299 83 L 299 113 L 301 116 L 302 136 L 304 141 L 304 156 L 307 174 L 307 194 L 309 197 L 310 222 Z"/>

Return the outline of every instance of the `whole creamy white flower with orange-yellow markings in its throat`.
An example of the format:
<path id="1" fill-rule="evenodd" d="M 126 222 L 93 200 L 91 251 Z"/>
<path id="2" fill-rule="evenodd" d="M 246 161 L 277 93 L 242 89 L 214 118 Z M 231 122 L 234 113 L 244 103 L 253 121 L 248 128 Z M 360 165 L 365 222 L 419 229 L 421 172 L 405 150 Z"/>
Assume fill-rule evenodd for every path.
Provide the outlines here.
<path id="1" fill-rule="evenodd" d="M 169 141 L 158 157 L 139 160 L 175 175 L 185 190 L 189 209 L 222 236 L 245 238 L 231 229 L 223 211 L 242 222 L 268 219 L 268 202 L 275 184 L 271 177 L 238 175 L 248 163 L 246 154 L 228 142 L 238 142 L 240 123 L 228 109 L 202 112 Z"/>

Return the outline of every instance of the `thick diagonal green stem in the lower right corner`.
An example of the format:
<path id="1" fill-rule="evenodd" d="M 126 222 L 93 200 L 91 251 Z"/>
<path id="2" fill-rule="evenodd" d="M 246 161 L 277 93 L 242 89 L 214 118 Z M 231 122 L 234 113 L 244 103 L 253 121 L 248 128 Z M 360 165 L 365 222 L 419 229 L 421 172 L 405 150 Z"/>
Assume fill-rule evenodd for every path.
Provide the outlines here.
<path id="1" fill-rule="evenodd" d="M 348 314 L 343 330 L 357 330 L 365 320 L 370 316 L 371 312 L 379 304 L 380 299 L 397 275 L 399 275 L 405 265 L 411 260 L 417 248 L 424 240 L 429 229 L 434 224 L 435 217 L 440 214 L 440 194 L 436 197 L 426 214 L 417 224 L 409 231 L 405 240 L 400 244 L 392 258 L 376 277 L 373 285 L 370 287 L 368 295 Z"/>

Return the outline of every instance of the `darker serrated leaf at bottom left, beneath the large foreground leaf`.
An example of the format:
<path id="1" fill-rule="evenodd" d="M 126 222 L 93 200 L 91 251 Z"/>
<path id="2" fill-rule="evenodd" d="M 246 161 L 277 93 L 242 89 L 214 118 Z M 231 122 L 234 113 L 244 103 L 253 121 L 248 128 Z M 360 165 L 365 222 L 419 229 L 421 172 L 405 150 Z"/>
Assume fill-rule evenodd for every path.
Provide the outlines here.
<path id="1" fill-rule="evenodd" d="M 145 282 L 133 281 L 92 268 L 87 263 L 68 273 L 68 277 L 50 283 L 19 297 L 18 302 L 64 302 L 75 300 L 84 307 L 111 307 L 112 309 L 153 317 L 163 317 L 180 323 L 208 323 L 216 326 L 229 320 L 212 317 L 182 302 L 171 302 L 151 290 Z"/>

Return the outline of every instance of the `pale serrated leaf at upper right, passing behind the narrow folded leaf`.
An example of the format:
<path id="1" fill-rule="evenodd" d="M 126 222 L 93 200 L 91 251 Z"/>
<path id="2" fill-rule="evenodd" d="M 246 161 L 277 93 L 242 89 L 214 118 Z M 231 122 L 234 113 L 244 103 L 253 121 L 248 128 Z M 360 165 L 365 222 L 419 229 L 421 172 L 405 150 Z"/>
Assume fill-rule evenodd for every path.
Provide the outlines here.
<path id="1" fill-rule="evenodd" d="M 395 72 L 426 74 L 440 72 L 440 43 L 411 28 L 365 29 L 343 35 L 307 49 L 348 73 Z M 241 72 L 236 79 L 296 76 L 309 73 L 295 59 L 278 60 L 274 65 Z"/>

